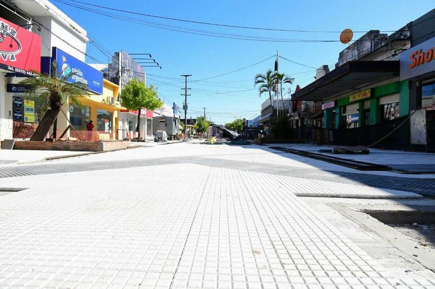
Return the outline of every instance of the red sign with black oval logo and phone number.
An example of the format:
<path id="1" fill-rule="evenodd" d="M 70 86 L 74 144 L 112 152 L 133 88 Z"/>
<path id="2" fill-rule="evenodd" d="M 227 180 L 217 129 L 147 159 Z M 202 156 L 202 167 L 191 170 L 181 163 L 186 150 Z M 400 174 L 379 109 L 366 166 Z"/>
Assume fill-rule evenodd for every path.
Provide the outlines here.
<path id="1" fill-rule="evenodd" d="M 0 67 L 26 75 L 39 72 L 41 37 L 0 17 Z"/>

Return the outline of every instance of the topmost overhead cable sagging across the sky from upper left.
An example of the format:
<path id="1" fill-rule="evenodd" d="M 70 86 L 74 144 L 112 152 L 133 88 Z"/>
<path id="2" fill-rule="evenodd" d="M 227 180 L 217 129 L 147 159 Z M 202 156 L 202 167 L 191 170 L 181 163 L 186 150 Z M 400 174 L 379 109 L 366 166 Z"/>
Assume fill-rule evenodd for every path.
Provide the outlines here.
<path id="1" fill-rule="evenodd" d="M 141 15 L 146 17 L 153 17 L 153 18 L 159 18 L 159 19 L 166 19 L 166 20 L 173 20 L 173 21 L 180 21 L 180 22 L 187 22 L 187 23 L 196 23 L 196 24 L 204 24 L 204 25 L 211 25 L 211 26 L 219 26 L 219 27 L 231 27 L 231 28 L 241 28 L 241 29 L 251 29 L 251 30 L 268 30 L 268 31 L 284 31 L 284 32 L 308 32 L 308 33 L 341 33 L 341 31 L 325 31 L 325 30 L 295 30 L 295 29 L 281 29 L 281 28 L 267 28 L 267 27 L 251 27 L 251 26 L 239 26 L 239 25 L 232 25 L 232 24 L 222 24 L 222 23 L 211 23 L 211 22 L 203 22 L 203 21 L 196 21 L 196 20 L 187 20 L 187 19 L 180 19 L 180 18 L 173 18 L 173 17 L 165 17 L 165 16 L 159 16 L 159 15 L 152 15 L 152 14 L 145 14 L 145 13 L 139 13 L 129 10 L 123 10 L 123 9 L 117 9 L 113 7 L 107 7 L 97 4 L 91 4 L 83 1 L 77 1 L 77 0 L 68 0 L 70 2 L 76 2 L 81 3 L 93 7 L 99 7 L 107 10 L 113 10 L 123 13 L 130 13 L 135 15 Z M 60 1 L 58 1 L 60 2 Z M 367 31 L 354 31 L 354 33 L 365 33 Z M 384 30 L 382 32 L 395 32 L 395 30 Z"/>

